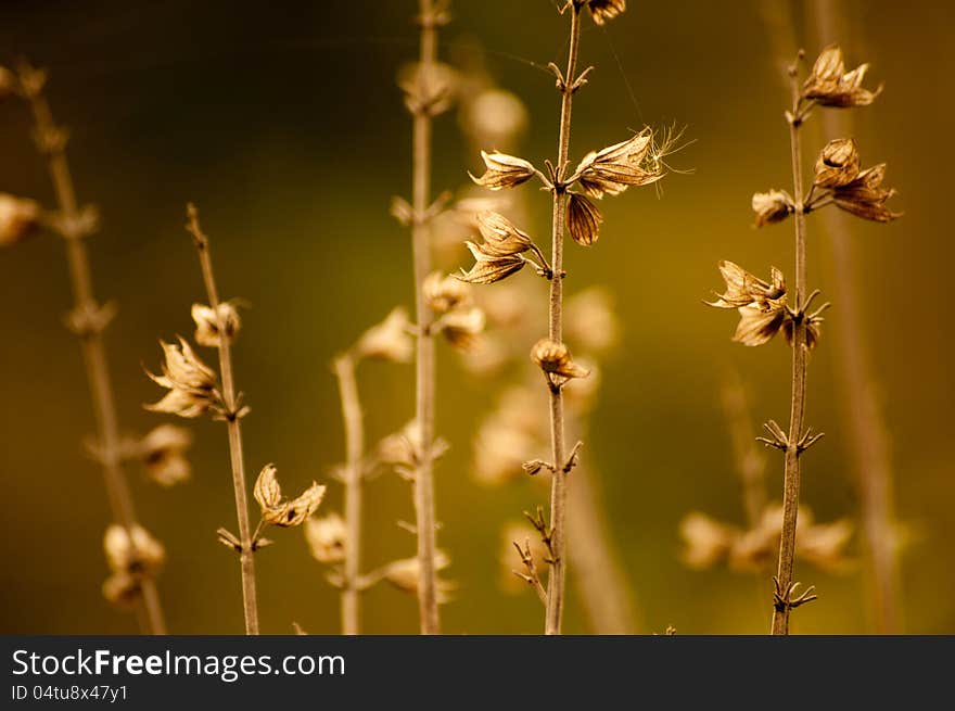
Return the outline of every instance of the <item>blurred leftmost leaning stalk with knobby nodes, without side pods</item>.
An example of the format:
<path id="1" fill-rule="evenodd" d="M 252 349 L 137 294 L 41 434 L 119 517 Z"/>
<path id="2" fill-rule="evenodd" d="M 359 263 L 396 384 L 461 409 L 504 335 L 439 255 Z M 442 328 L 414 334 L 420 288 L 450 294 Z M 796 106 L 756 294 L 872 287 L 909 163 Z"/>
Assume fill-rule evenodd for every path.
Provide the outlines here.
<path id="1" fill-rule="evenodd" d="M 129 542 L 130 555 L 136 557 L 140 531 L 132 494 L 123 468 L 123 450 L 116 416 L 116 402 L 110 380 L 103 331 L 110 323 L 114 307 L 100 305 L 93 295 L 92 270 L 86 238 L 96 231 L 97 215 L 91 206 L 80 206 L 69 164 L 66 158 L 66 130 L 59 127 L 43 93 L 46 74 L 27 63 L 18 68 L 17 89 L 29 104 L 34 119 L 34 138 L 39 152 L 46 157 L 59 213 L 51 220 L 66 243 L 66 258 L 73 288 L 74 308 L 67 319 L 71 330 L 79 338 L 86 364 L 93 411 L 97 420 L 97 458 L 103 468 L 106 496 L 113 519 L 122 526 Z M 151 634 L 166 634 L 160 594 L 153 575 L 137 579 L 145 611 L 144 630 Z"/>

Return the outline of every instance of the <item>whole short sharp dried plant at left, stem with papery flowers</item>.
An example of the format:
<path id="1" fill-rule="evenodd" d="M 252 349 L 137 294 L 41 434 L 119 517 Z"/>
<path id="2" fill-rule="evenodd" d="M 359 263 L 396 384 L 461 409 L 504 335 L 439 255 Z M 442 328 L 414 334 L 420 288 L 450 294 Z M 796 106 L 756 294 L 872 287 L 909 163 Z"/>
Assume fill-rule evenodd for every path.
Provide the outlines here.
<path id="1" fill-rule="evenodd" d="M 271 541 L 262 536 L 263 529 L 267 525 L 282 529 L 302 525 L 318 508 L 326 487 L 313 482 L 311 486 L 295 498 L 285 498 L 275 466 L 266 465 L 259 472 L 253 491 L 255 500 L 259 505 L 260 516 L 255 530 L 252 530 L 241 427 L 242 418 L 250 409 L 242 403 L 242 394 L 235 390 L 232 368 L 232 342 L 242 323 L 234 303 L 219 299 L 209 240 L 202 230 L 199 211 L 194 205 L 188 206 L 187 216 L 186 229 L 199 253 L 202 279 L 208 300 L 208 304 L 192 306 L 192 319 L 195 322 L 194 338 L 196 343 L 218 351 L 219 373 L 203 363 L 186 339 L 180 337 L 178 343 L 161 341 L 164 355 L 162 374 L 149 373 L 149 376 L 167 392 L 157 403 L 147 405 L 145 408 L 154 412 L 190 419 L 211 415 L 214 419 L 226 422 L 239 535 L 227 529 L 219 529 L 217 534 L 222 545 L 239 554 L 245 633 L 257 635 L 259 624 L 254 555 L 258 549 L 271 544 Z M 157 428 L 154 432 L 160 430 L 161 428 Z M 175 439 L 170 442 L 168 435 L 155 439 L 165 440 L 167 447 L 176 444 Z"/>

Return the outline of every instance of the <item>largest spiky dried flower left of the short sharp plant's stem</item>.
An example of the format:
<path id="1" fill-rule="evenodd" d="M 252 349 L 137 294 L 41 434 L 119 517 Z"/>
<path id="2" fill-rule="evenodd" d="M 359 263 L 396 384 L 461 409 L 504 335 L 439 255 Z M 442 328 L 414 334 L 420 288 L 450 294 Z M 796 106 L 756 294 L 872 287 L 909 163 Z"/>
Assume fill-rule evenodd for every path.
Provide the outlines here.
<path id="1" fill-rule="evenodd" d="M 163 374 L 147 373 L 169 392 L 158 403 L 145 405 L 153 412 L 168 412 L 193 418 L 219 404 L 216 391 L 216 373 L 195 355 L 183 339 L 179 345 L 160 341 L 165 354 Z"/>

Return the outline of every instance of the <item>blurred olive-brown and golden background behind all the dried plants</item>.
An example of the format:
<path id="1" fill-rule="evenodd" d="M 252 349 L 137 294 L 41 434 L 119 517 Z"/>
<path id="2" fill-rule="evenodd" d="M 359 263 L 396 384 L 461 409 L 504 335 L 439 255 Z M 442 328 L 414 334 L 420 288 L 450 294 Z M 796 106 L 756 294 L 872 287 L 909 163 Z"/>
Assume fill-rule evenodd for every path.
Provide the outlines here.
<path id="1" fill-rule="evenodd" d="M 485 78 L 524 102 L 526 130 L 513 150 L 538 165 L 553 155 L 558 118 L 553 79 L 543 67 L 561 63 L 566 51 L 566 21 L 556 5 L 456 0 L 442 33 L 444 59 L 472 69 L 480 63 Z M 646 124 L 675 123 L 693 142 L 671 162 L 693 173 L 667 176 L 659 193 L 645 188 L 603 201 L 600 241 L 568 244 L 568 291 L 602 284 L 621 325 L 602 365 L 584 461 L 599 481 L 638 631 L 762 634 L 771 583 L 725 566 L 690 570 L 678 528 L 692 510 L 744 525 L 721 406 L 727 373 L 744 383 L 755 422 L 788 418 L 789 350 L 776 341 L 731 343 L 735 314 L 700 303 L 723 285 L 720 259 L 762 276 L 771 264 L 792 271 L 791 223 L 756 231 L 750 210 L 755 191 L 791 190 L 778 42 L 757 3 L 628 5 L 603 28 L 585 21 L 582 62 L 597 69 L 575 103 L 572 156 Z M 811 8 L 795 3 L 790 28 L 812 59 L 820 46 Z M 97 295 L 119 307 L 106 344 L 124 431 L 164 420 L 141 407 L 160 396 L 143 367 L 158 367 L 157 339 L 191 335 L 189 309 L 203 300 L 182 229 L 184 204 L 195 201 L 224 296 L 251 305 L 234 350 L 238 384 L 252 407 L 244 420 L 249 470 L 275 461 L 293 491 L 328 480 L 343 459 L 331 358 L 393 306 L 412 303 L 410 240 L 389 216 L 389 202 L 410 193 L 410 118 L 395 76 L 417 53 L 415 11 L 410 0 L 267 9 L 218 0 L 0 3 L 0 64 L 27 56 L 50 69 L 48 94 L 71 130 L 79 198 L 101 208 L 103 229 L 90 251 Z M 951 634 L 955 376 L 944 354 L 955 335 L 943 321 L 955 256 L 944 178 L 953 158 L 946 138 L 955 8 L 850 2 L 845 16 L 849 65 L 871 62 L 868 84 L 886 84 L 871 107 L 854 112 L 853 130 L 866 165 L 888 163 L 887 182 L 900 192 L 894 208 L 905 212 L 888 226 L 852 221 L 907 542 L 903 629 Z M 808 163 L 822 138 L 806 135 Z M 436 190 L 458 190 L 466 169 L 480 172 L 454 112 L 438 119 L 435 142 Z M 0 192 L 52 205 L 27 112 L 14 100 L 0 103 Z M 549 200 L 533 188 L 524 193 L 522 227 L 546 243 Z M 826 239 L 811 219 L 810 285 L 831 295 L 840 277 Z M 460 247 L 446 268 L 468 265 Z M 0 631 L 133 633 L 135 617 L 100 593 L 109 511 L 99 469 L 81 448 L 93 421 L 79 348 L 62 326 L 71 292 L 61 240 L 40 234 L 0 252 Z M 543 297 L 534 307 L 543 333 Z M 850 427 L 827 338 L 839 323 L 837 304 L 811 361 L 807 421 L 827 436 L 804 459 L 802 500 L 818 520 L 857 521 Z M 538 633 L 543 610 L 530 591 L 501 591 L 498 558 L 501 526 L 544 504 L 546 491 L 520 478 L 486 486 L 472 471 L 475 430 L 508 374 L 476 379 L 448 348 L 440 351 L 437 429 L 451 445 L 436 473 L 440 543 L 457 584 L 443 608 L 444 631 Z M 391 364 L 359 369 L 369 442 L 411 417 L 412 373 Z M 238 564 L 215 536 L 220 525 L 234 529 L 235 518 L 225 431 L 206 420 L 186 424 L 195 435 L 192 480 L 165 490 L 130 468 L 130 481 L 144 525 L 167 548 L 158 585 L 170 631 L 240 633 Z M 771 452 L 768 462 L 771 497 L 778 498 L 780 457 Z M 326 510 L 341 500 L 341 487 L 329 488 Z M 395 525 L 413 520 L 408 484 L 385 475 L 367 492 L 367 567 L 413 555 L 412 536 Z M 257 556 L 263 631 L 286 634 L 294 621 L 309 633 L 336 633 L 338 594 L 302 532 L 272 533 L 276 545 Z M 861 553 L 856 534 L 849 554 Z M 874 629 L 861 566 L 835 575 L 798 562 L 795 576 L 815 584 L 820 600 L 795 613 L 794 632 Z M 571 586 L 573 633 L 590 630 L 578 589 Z M 370 633 L 418 629 L 413 597 L 386 586 L 365 597 L 364 614 Z"/>

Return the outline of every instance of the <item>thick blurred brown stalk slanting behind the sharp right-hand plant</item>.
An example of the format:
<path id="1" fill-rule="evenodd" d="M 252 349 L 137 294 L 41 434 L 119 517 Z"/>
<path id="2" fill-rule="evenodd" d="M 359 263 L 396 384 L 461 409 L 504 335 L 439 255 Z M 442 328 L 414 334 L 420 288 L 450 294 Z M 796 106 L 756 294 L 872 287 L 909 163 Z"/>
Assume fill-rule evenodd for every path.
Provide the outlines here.
<path id="1" fill-rule="evenodd" d="M 844 25 L 835 1 L 813 3 L 820 46 L 836 41 Z M 843 45 L 844 47 L 844 45 Z M 851 136 L 850 112 L 824 112 L 826 138 Z M 843 417 L 849 426 L 855 482 L 862 508 L 862 531 L 873 619 L 879 634 L 897 634 L 902 625 L 900 572 L 893 531 L 892 464 L 888 429 L 875 396 L 855 256 L 849 220 L 833 210 L 820 213 L 838 279 L 832 280 L 839 329 L 832 332 Z"/>

